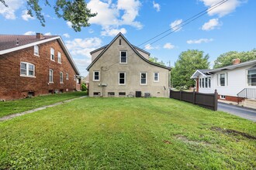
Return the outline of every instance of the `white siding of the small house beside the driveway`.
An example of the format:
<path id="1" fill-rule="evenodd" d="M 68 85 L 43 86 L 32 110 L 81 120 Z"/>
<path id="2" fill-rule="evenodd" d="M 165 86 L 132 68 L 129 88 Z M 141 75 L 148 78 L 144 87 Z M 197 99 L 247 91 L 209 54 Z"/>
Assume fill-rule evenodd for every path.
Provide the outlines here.
<path id="1" fill-rule="evenodd" d="M 254 66 L 254 65 L 252 65 Z M 237 93 L 244 88 L 256 88 L 255 86 L 248 86 L 247 84 L 247 70 L 252 66 L 243 66 L 236 68 L 234 70 L 223 70 L 217 73 L 214 73 L 212 77 L 212 86 L 209 89 L 199 87 L 200 93 L 214 93 L 216 89 L 219 95 L 237 97 Z M 218 76 L 222 73 L 227 73 L 227 83 L 226 86 L 218 85 Z M 202 76 L 199 76 L 202 78 Z"/>

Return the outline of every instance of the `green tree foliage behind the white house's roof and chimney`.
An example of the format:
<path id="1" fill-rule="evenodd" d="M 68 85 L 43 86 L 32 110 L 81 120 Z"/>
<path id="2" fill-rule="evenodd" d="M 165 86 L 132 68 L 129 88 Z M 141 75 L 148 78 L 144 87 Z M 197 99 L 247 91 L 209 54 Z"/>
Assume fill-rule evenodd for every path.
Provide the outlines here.
<path id="1" fill-rule="evenodd" d="M 251 51 L 247 52 L 237 52 L 237 51 L 230 51 L 227 53 L 221 54 L 215 61 L 214 61 L 214 69 L 229 66 L 233 64 L 233 59 L 239 58 L 241 62 L 249 61 L 251 59 L 256 59 L 256 49 L 252 49 Z"/>

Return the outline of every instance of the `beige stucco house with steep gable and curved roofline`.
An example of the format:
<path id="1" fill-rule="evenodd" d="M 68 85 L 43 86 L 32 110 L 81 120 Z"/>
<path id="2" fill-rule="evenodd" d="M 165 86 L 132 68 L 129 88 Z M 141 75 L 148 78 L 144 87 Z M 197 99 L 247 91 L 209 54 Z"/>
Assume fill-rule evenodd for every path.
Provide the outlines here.
<path id="1" fill-rule="evenodd" d="M 130 44 L 122 33 L 91 55 L 90 97 L 168 97 L 171 68 L 150 62 L 150 53 Z"/>

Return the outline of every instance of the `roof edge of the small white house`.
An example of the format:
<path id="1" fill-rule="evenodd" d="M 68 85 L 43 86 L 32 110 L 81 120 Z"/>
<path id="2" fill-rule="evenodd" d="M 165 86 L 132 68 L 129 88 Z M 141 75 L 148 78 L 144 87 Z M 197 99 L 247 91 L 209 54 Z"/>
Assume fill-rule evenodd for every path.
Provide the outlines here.
<path id="1" fill-rule="evenodd" d="M 256 65 L 256 59 L 250 60 L 244 63 L 238 63 L 230 66 L 223 66 L 218 69 L 213 69 L 213 70 L 196 70 L 195 73 L 190 77 L 191 79 L 195 79 L 199 76 L 199 74 L 202 74 L 202 76 L 210 76 L 213 75 L 214 73 L 223 71 L 223 70 L 234 70 L 236 68 L 242 67 L 242 66 L 250 66 L 250 65 Z"/>

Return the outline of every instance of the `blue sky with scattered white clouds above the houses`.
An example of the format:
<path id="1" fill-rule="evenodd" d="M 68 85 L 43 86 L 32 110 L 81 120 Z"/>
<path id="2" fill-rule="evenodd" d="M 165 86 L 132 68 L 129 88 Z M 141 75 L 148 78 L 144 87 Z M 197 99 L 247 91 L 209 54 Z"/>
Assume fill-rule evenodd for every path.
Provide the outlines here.
<path id="1" fill-rule="evenodd" d="M 133 45 L 157 36 L 184 22 L 221 0 L 90 0 L 88 8 L 98 15 L 90 19 L 91 26 L 74 32 L 68 22 L 58 19 L 54 9 L 43 6 L 46 26 L 26 15 L 25 0 L 5 0 L 0 4 L 0 33 L 58 35 L 64 40 L 82 76 L 91 63 L 89 52 L 108 44 L 118 32 L 123 32 Z M 43 2 L 43 1 L 40 1 Z M 50 3 L 53 3 L 50 1 Z M 153 44 L 139 46 L 168 66 L 174 66 L 178 55 L 187 49 L 199 49 L 209 54 L 209 62 L 222 53 L 256 48 L 256 1 L 228 0 L 219 7 L 183 26 Z"/>

